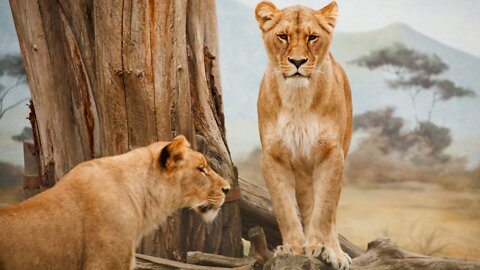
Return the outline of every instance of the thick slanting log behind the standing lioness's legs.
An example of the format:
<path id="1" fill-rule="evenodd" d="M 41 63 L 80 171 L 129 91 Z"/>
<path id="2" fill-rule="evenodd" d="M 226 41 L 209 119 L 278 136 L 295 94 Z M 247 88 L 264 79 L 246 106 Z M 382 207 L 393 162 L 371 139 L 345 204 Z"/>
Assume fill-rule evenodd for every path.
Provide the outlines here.
<path id="1" fill-rule="evenodd" d="M 282 237 L 273 213 L 268 191 L 264 187 L 258 186 L 245 178 L 239 177 L 238 181 L 242 190 L 242 198 L 240 200 L 242 236 L 245 239 L 249 239 L 249 229 L 260 226 L 265 231 L 270 249 L 280 245 L 282 243 Z M 364 251 L 342 235 L 339 235 L 339 238 L 343 251 L 348 253 L 350 257 L 355 258 L 364 253 Z"/>

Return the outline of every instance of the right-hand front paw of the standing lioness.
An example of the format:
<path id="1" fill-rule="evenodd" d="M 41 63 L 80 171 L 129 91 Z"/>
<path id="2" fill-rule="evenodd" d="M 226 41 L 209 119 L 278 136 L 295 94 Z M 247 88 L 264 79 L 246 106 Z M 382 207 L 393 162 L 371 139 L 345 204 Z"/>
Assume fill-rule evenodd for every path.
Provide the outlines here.
<path id="1" fill-rule="evenodd" d="M 305 248 L 305 254 L 317 258 L 326 264 L 330 264 L 333 268 L 340 270 L 348 270 L 352 263 L 350 256 L 341 249 L 335 251 L 334 249 L 321 244 L 307 246 Z"/>

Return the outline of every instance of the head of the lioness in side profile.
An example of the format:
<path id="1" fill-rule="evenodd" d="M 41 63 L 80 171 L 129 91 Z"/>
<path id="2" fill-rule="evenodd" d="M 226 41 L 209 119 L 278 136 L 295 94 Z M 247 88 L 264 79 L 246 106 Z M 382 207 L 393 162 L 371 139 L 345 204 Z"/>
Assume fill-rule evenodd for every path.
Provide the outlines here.
<path id="1" fill-rule="evenodd" d="M 208 165 L 205 157 L 192 150 L 180 135 L 161 150 L 158 160 L 168 179 L 180 184 L 184 205 L 206 221 L 215 219 L 230 184 Z"/>

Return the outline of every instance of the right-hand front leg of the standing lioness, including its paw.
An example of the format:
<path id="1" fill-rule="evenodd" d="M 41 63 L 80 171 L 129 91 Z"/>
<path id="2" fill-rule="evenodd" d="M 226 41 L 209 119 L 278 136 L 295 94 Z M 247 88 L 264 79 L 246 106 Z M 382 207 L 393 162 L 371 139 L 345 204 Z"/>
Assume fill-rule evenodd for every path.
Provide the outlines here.
<path id="1" fill-rule="evenodd" d="M 335 226 L 337 204 L 343 182 L 344 155 L 332 149 L 313 172 L 314 205 L 306 228 L 305 253 L 337 269 L 348 269 L 351 259 L 338 241 Z"/>

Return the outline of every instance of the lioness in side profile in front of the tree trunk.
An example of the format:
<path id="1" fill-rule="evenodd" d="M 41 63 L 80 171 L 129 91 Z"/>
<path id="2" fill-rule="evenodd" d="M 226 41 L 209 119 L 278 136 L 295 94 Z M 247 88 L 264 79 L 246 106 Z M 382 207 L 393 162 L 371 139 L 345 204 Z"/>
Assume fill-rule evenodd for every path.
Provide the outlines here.
<path id="1" fill-rule="evenodd" d="M 133 269 L 141 237 L 182 207 L 211 221 L 230 185 L 183 136 L 76 166 L 0 209 L 0 269 Z"/>

